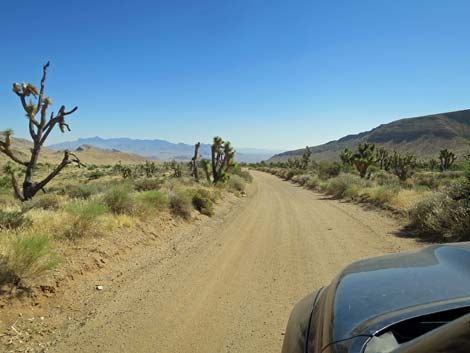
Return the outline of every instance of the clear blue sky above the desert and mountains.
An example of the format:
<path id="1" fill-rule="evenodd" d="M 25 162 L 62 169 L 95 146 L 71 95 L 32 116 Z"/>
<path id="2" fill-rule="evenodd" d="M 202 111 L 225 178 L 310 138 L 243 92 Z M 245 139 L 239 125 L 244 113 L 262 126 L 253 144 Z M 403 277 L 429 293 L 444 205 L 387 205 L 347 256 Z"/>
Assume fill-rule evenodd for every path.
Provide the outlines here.
<path id="1" fill-rule="evenodd" d="M 469 1 L 4 1 L 0 129 L 26 136 L 11 83 L 51 60 L 78 137 L 320 144 L 470 100 Z"/>

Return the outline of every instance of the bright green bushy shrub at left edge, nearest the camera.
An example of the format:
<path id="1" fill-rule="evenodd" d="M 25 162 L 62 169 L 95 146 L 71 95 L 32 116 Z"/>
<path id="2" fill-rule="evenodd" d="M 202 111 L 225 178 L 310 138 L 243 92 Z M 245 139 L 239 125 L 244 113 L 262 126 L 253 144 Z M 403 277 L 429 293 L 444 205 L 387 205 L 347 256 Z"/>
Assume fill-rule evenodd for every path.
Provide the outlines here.
<path id="1" fill-rule="evenodd" d="M 20 235 L 8 244 L 0 266 L 0 283 L 26 285 L 57 267 L 60 259 L 49 237 L 43 234 Z"/>

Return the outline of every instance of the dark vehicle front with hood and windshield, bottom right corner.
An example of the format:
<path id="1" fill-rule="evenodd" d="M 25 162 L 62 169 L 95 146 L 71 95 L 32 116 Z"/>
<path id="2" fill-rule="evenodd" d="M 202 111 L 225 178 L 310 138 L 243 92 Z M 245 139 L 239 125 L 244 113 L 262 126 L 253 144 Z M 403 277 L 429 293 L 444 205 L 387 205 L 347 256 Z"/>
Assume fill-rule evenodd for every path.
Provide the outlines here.
<path id="1" fill-rule="evenodd" d="M 371 258 L 301 300 L 282 353 L 470 352 L 470 243 Z"/>

